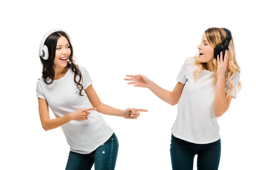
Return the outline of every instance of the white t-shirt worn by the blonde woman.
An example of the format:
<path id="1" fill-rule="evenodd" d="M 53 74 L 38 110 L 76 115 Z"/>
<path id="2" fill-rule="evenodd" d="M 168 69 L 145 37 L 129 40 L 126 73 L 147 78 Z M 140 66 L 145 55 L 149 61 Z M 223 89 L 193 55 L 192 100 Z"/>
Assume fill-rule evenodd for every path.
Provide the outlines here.
<path id="1" fill-rule="evenodd" d="M 218 117 L 214 115 L 215 86 L 212 86 L 213 73 L 204 70 L 197 75 L 194 81 L 193 72 L 198 67 L 195 59 L 187 59 L 180 70 L 176 80 L 184 85 L 178 102 L 178 112 L 172 134 L 188 142 L 196 144 L 207 144 L 220 139 Z M 230 90 L 226 72 L 225 92 Z M 232 91 L 233 98 L 236 98 L 240 73 L 231 77 L 236 87 Z"/>

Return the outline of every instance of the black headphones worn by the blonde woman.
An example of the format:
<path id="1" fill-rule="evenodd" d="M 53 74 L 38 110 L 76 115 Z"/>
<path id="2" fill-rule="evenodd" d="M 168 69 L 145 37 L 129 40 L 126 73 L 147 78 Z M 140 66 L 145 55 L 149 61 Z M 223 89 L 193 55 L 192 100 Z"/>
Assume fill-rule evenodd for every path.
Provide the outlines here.
<path id="1" fill-rule="evenodd" d="M 223 28 L 227 35 L 226 35 L 226 41 L 224 44 L 220 44 L 220 45 L 217 45 L 217 47 L 215 47 L 214 49 L 214 58 L 217 59 L 217 56 L 219 55 L 219 57 L 221 57 L 221 51 L 222 51 L 222 57 L 224 59 L 224 55 L 225 55 L 225 51 L 227 50 L 228 51 L 228 45 L 232 39 L 232 35 L 231 35 L 231 32 L 227 29 L 227 28 Z"/>

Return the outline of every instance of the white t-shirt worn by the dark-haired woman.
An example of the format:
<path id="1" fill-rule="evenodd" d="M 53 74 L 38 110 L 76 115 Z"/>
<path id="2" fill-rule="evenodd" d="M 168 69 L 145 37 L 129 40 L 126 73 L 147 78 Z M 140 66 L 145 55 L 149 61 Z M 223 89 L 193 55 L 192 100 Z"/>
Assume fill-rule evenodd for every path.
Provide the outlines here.
<path id="1" fill-rule="evenodd" d="M 91 83 L 87 70 L 79 66 L 83 77 L 82 85 L 86 89 Z M 77 80 L 79 76 L 76 77 Z M 50 79 L 47 78 L 47 82 Z M 41 78 L 36 84 L 36 96 L 46 99 L 49 108 L 55 117 L 65 116 L 79 108 L 93 108 L 90 100 L 83 90 L 83 95 L 79 95 L 79 89 L 74 82 L 74 72 L 71 68 L 61 79 L 54 80 L 50 85 Z M 90 111 L 87 120 L 72 120 L 61 126 L 70 150 L 76 153 L 88 154 L 104 144 L 113 134 L 113 130 L 103 120 L 97 111 Z"/>

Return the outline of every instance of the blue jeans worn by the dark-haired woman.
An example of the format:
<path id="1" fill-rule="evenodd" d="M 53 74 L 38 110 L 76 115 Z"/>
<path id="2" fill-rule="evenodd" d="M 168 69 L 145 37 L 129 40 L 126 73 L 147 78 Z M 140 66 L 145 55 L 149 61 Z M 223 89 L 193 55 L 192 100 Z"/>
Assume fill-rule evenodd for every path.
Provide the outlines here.
<path id="1" fill-rule="evenodd" d="M 66 170 L 90 170 L 93 164 L 95 170 L 114 170 L 118 148 L 118 139 L 116 134 L 113 133 L 107 142 L 92 153 L 81 154 L 70 151 Z"/>

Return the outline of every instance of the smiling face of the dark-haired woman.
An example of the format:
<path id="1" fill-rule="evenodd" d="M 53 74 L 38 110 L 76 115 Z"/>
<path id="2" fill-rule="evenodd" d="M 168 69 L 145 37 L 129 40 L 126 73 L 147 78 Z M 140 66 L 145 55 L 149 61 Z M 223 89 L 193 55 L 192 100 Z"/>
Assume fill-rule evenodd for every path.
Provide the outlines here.
<path id="1" fill-rule="evenodd" d="M 70 44 L 66 37 L 61 36 L 58 38 L 55 59 L 54 59 L 54 69 L 65 68 L 67 66 L 68 58 L 70 57 Z"/>

